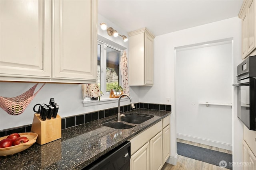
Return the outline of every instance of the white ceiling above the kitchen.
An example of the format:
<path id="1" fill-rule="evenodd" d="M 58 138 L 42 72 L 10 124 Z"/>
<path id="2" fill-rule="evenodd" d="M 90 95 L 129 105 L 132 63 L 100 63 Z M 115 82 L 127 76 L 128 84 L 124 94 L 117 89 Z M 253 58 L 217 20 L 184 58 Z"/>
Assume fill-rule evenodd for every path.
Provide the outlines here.
<path id="1" fill-rule="evenodd" d="M 162 35 L 238 16 L 243 0 L 98 0 L 98 13 L 124 31 Z"/>

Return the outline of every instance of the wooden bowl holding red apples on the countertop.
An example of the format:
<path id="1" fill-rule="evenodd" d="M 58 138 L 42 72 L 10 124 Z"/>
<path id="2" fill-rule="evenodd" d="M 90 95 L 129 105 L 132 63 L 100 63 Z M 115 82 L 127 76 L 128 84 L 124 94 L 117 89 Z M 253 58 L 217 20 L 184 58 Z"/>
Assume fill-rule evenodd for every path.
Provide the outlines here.
<path id="1" fill-rule="evenodd" d="M 21 152 L 23 150 L 26 150 L 36 142 L 36 139 L 38 137 L 36 133 L 19 133 L 19 134 L 21 137 L 22 136 L 27 137 L 29 141 L 26 143 L 22 143 L 20 145 L 12 146 L 12 147 L 0 148 L 0 156 L 12 155 L 12 154 Z M 0 137 L 0 140 L 6 139 L 7 137 L 8 136 Z"/>

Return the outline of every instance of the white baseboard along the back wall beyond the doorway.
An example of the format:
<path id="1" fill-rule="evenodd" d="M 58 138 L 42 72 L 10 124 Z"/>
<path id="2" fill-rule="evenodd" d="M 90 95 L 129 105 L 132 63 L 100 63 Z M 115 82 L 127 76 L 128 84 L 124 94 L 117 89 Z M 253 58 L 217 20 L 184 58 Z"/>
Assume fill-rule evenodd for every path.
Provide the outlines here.
<path id="1" fill-rule="evenodd" d="M 184 135 L 184 134 L 180 134 L 180 133 L 177 133 L 177 138 L 178 139 L 183 139 L 183 140 L 186 140 L 186 141 L 201 143 L 201 144 L 204 144 L 204 145 L 209 145 L 209 146 L 212 146 L 212 147 L 232 150 L 232 145 L 228 144 L 228 143 L 222 143 L 222 142 L 218 142 L 218 141 L 211 141 L 211 140 L 208 140 L 208 139 L 202 139 L 202 138 L 193 137 L 193 136 L 189 136 L 189 135 Z"/>

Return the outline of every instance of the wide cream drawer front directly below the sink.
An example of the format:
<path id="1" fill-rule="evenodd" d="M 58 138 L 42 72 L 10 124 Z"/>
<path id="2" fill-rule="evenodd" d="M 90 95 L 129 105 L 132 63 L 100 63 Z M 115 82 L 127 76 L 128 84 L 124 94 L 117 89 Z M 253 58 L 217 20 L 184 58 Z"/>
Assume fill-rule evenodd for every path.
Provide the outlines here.
<path id="1" fill-rule="evenodd" d="M 128 141 L 131 143 L 131 155 L 134 154 L 143 145 L 145 145 L 145 143 L 150 141 L 150 139 L 152 139 L 160 131 L 162 131 L 162 120 L 149 127 L 145 131 L 142 131 L 132 139 L 129 139 Z"/>

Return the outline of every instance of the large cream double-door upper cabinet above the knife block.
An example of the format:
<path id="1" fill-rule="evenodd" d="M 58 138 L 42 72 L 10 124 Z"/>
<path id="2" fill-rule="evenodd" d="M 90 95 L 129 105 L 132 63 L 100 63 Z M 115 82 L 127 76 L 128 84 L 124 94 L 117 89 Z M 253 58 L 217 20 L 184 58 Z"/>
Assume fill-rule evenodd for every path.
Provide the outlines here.
<path id="1" fill-rule="evenodd" d="M 96 0 L 1 0 L 0 11 L 0 80 L 96 82 Z"/>

